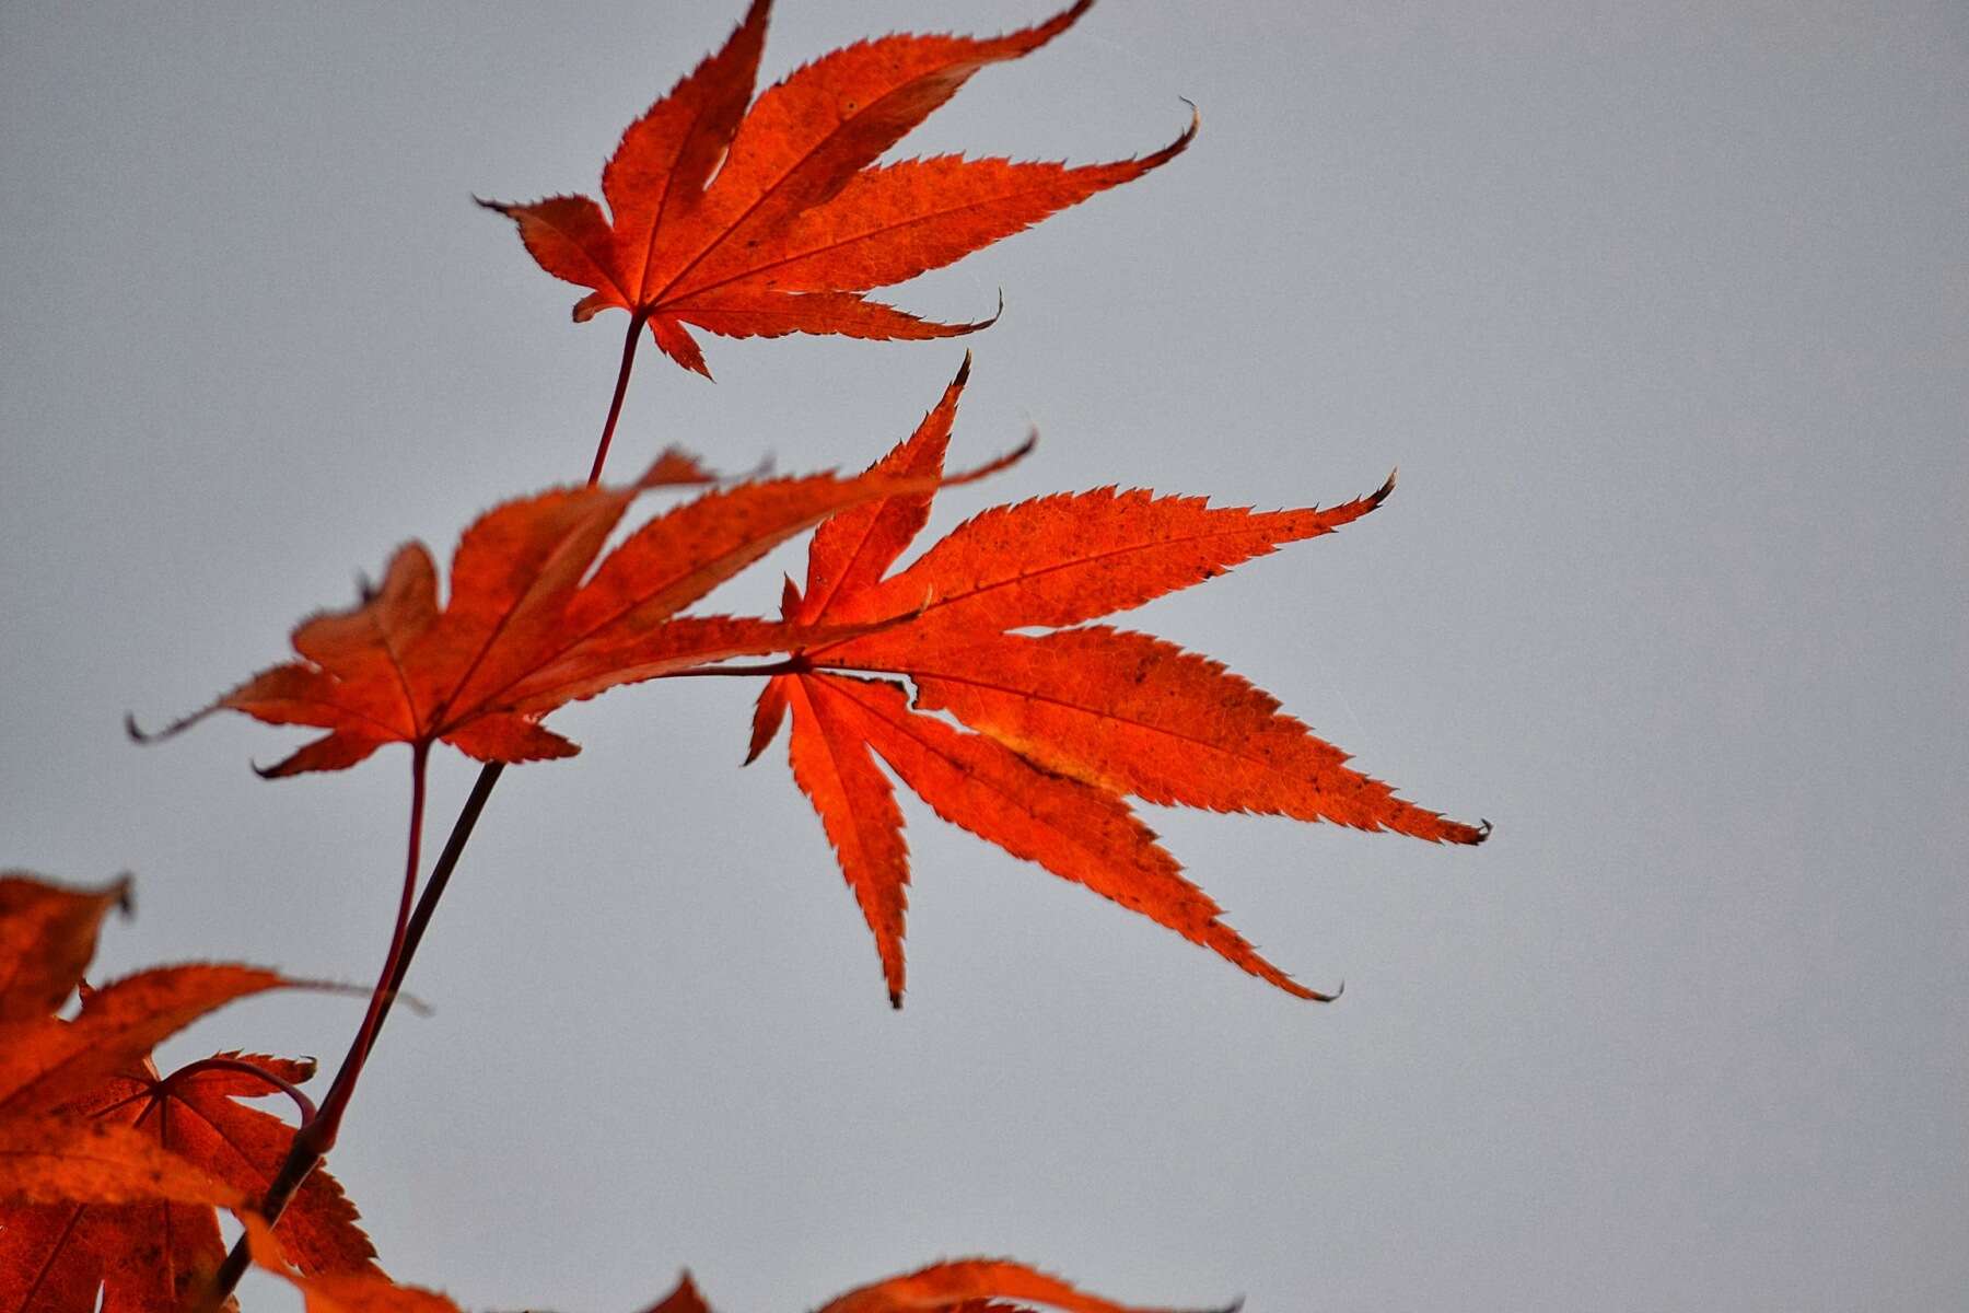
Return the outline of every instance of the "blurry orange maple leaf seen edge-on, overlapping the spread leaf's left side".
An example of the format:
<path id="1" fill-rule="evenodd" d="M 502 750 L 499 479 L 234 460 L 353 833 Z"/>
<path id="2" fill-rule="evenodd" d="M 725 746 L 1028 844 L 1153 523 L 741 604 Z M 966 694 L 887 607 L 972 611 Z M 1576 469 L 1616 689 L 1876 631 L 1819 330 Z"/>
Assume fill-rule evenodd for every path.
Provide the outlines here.
<path id="1" fill-rule="evenodd" d="M 388 742 L 447 742 L 480 762 L 571 756 L 579 748 L 540 724 L 567 701 L 815 638 L 805 626 L 673 618 L 677 610 L 837 510 L 935 484 L 811 474 L 719 488 L 656 516 L 595 565 L 640 492 L 703 480 L 693 463 L 666 455 L 626 486 L 555 488 L 506 502 L 461 537 L 443 606 L 431 553 L 408 543 L 360 604 L 293 630 L 299 661 L 260 671 L 159 736 L 221 709 L 329 730 L 266 776 L 341 770 Z M 150 738 L 134 722 L 130 732 Z"/>

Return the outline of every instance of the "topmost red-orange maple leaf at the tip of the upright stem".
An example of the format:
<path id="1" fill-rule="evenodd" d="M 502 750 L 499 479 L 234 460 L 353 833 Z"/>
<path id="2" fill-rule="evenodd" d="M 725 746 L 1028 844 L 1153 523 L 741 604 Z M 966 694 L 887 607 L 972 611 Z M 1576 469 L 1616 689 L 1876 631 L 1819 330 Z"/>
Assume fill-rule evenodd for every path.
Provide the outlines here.
<path id="1" fill-rule="evenodd" d="M 603 169 L 606 215 L 589 197 L 480 205 L 520 224 L 543 270 L 593 289 L 577 321 L 626 309 L 632 343 L 648 323 L 669 358 L 705 376 L 685 325 L 725 337 L 971 333 L 984 323 L 929 323 L 860 293 L 1140 177 L 1181 154 L 1195 116 L 1170 146 L 1114 163 L 874 161 L 973 73 L 1046 45 L 1089 4 L 1002 37 L 857 41 L 752 100 L 772 8 L 754 0 L 725 47 L 622 134 Z"/>

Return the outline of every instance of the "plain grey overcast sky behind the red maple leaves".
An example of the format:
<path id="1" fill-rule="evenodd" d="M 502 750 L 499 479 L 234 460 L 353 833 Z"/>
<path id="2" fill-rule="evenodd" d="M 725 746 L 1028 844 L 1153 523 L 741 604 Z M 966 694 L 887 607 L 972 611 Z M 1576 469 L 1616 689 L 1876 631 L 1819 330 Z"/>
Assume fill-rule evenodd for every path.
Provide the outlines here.
<path id="1" fill-rule="evenodd" d="M 725 6 L 0 10 L 0 864 L 130 868 L 100 970 L 368 980 L 406 754 L 262 783 L 286 656 L 417 535 L 577 480 L 575 327 L 471 195 L 593 191 Z M 778 75 L 1044 4 L 786 0 Z M 1168 169 L 898 299 L 969 317 L 945 496 L 1402 486 L 1130 622 L 1483 850 L 1150 809 L 1300 1004 L 908 807 L 910 1000 L 752 687 L 555 717 L 333 1167 L 467 1307 L 725 1313 L 943 1254 L 1138 1303 L 1939 1309 L 1969 1289 L 1969 20 L 1955 4 L 1111 0 L 908 146 Z M 648 354 L 616 474 L 860 467 L 965 344 Z M 719 596 L 764 608 L 784 553 Z M 433 829 L 473 768 L 437 772 Z M 1957 856 L 1949 856 L 1955 852 Z M 215 1047 L 339 1057 L 350 1000 Z M 293 1307 L 258 1291 L 262 1307 Z"/>

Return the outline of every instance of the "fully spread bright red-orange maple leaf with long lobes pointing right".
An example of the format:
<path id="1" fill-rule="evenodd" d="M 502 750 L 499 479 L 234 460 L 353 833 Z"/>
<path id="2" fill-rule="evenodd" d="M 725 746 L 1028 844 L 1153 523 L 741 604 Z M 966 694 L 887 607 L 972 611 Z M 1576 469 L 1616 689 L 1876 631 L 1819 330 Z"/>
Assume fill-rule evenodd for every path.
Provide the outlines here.
<path id="1" fill-rule="evenodd" d="M 959 372 L 916 433 L 870 472 L 933 476 L 963 384 Z M 878 758 L 945 821 L 1290 994 L 1331 998 L 1294 982 L 1225 925 L 1124 799 L 1447 843 L 1479 843 L 1487 831 L 1406 803 L 1347 768 L 1347 754 L 1215 661 L 1146 634 L 1071 626 L 1201 583 L 1278 543 L 1331 533 L 1390 488 L 1392 480 L 1329 510 L 1282 512 L 1114 488 L 1048 496 L 986 510 L 892 577 L 886 571 L 929 516 L 929 492 L 868 502 L 815 531 L 805 591 L 786 585 L 790 624 L 908 618 L 797 654 L 799 669 L 760 693 L 750 756 L 792 709 L 794 778 L 874 931 L 892 1004 L 904 988 L 910 854 Z M 1053 632 L 1016 632 L 1028 628 Z M 914 705 L 894 675 L 914 683 Z M 947 713 L 975 732 L 925 713 Z"/>

